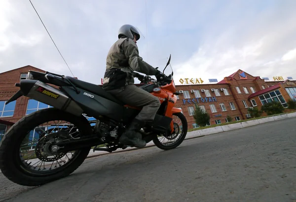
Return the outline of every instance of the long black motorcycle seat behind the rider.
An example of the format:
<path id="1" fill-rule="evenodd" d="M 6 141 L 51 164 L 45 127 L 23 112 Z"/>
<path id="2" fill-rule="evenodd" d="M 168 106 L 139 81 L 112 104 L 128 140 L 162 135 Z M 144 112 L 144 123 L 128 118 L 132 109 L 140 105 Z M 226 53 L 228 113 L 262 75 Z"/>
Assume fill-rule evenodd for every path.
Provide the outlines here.
<path id="1" fill-rule="evenodd" d="M 66 76 L 76 87 L 81 88 L 83 90 L 89 91 L 95 95 L 101 96 L 103 98 L 106 98 L 110 101 L 116 102 L 118 104 L 124 105 L 125 103 L 115 98 L 113 95 L 105 91 L 101 86 L 88 83 L 82 80 L 78 80 L 76 78 L 73 78 L 71 76 Z"/>

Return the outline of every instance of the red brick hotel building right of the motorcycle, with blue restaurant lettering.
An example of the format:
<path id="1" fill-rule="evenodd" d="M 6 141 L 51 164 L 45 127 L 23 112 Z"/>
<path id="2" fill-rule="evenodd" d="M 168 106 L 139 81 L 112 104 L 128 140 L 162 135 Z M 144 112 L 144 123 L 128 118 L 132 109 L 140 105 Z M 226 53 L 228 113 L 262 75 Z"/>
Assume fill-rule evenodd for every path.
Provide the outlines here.
<path id="1" fill-rule="evenodd" d="M 178 85 L 177 90 L 182 94 L 176 107 L 182 109 L 189 129 L 199 127 L 193 119 L 195 104 L 210 115 L 207 125 L 216 125 L 228 122 L 228 115 L 235 121 L 252 118 L 249 107 L 260 109 L 272 100 L 280 101 L 285 108 L 290 99 L 296 101 L 296 81 L 266 82 L 240 69 L 217 84 Z"/>

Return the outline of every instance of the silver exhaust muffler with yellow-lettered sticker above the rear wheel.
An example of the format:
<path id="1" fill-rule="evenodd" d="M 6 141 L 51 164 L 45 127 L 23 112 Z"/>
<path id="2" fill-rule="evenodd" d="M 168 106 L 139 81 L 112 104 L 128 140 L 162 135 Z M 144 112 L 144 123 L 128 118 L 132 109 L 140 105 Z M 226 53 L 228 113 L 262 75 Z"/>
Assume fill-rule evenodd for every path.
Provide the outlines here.
<path id="1" fill-rule="evenodd" d="M 43 102 L 62 111 L 80 116 L 83 109 L 66 94 L 38 80 L 21 80 L 20 88 L 24 96 Z"/>

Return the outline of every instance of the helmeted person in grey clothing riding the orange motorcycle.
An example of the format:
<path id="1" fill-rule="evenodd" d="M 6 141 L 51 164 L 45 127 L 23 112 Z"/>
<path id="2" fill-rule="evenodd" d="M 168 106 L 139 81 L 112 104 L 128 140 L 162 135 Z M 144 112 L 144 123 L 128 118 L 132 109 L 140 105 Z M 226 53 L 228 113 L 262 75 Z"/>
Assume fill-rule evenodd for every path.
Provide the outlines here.
<path id="1" fill-rule="evenodd" d="M 139 56 L 136 44 L 139 38 L 139 32 L 132 25 L 120 27 L 118 40 L 111 46 L 107 56 L 103 88 L 126 104 L 143 107 L 126 132 L 120 136 L 119 141 L 124 145 L 145 147 L 146 141 L 142 139 L 139 131 L 147 122 L 154 120 L 160 101 L 157 97 L 134 85 L 135 73 L 133 71 L 155 75 L 157 80 L 163 75 Z"/>

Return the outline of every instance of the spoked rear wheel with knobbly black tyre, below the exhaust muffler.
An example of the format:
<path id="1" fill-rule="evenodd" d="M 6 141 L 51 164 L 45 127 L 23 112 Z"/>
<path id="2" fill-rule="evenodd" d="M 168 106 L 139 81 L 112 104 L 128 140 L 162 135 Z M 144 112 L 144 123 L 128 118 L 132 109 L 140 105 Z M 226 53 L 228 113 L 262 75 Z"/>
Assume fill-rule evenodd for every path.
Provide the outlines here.
<path id="1" fill-rule="evenodd" d="M 2 141 L 0 142 L 0 169 L 3 175 L 6 176 L 10 181 L 23 186 L 39 186 L 42 184 L 46 184 L 48 182 L 70 175 L 86 159 L 91 147 L 86 147 L 86 148 L 74 151 L 74 155 L 71 155 L 71 156 L 69 155 L 71 159 L 66 154 L 69 159 L 69 162 L 65 163 L 67 160 L 66 157 L 65 157 L 66 160 L 60 160 L 60 159 L 57 160 L 57 158 L 59 158 L 63 154 L 62 155 L 58 154 L 53 157 L 48 156 L 47 154 L 42 156 L 42 154 L 45 154 L 45 149 L 44 151 L 42 151 L 43 150 L 42 148 L 50 144 L 50 142 L 47 140 L 46 140 L 47 142 L 45 141 L 42 142 L 41 146 L 38 148 L 37 146 L 39 143 L 37 143 L 36 145 L 34 145 L 33 142 L 22 144 L 24 140 L 27 140 L 28 133 L 29 133 L 29 139 L 30 138 L 34 139 L 34 135 L 33 137 L 32 135 L 30 137 L 30 134 L 32 134 L 32 130 L 36 130 L 36 128 L 40 130 L 43 127 L 43 123 L 45 122 L 52 123 L 52 121 L 54 120 L 63 120 L 64 121 L 63 123 L 66 123 L 66 122 L 72 123 L 74 125 L 74 133 L 78 131 L 77 134 L 80 135 L 80 137 L 82 135 L 90 135 L 92 133 L 92 129 L 88 121 L 86 120 L 86 118 L 84 118 L 83 116 L 76 117 L 70 113 L 60 111 L 56 108 L 42 109 L 23 117 L 8 130 L 8 132 L 6 133 L 6 135 L 4 135 Z M 42 127 L 38 127 L 41 124 L 42 124 Z M 69 125 L 69 127 L 70 126 L 72 125 Z M 65 124 L 61 129 L 59 127 L 60 126 L 58 126 L 58 129 L 52 129 L 52 131 L 56 131 L 56 130 L 58 130 L 58 132 L 63 131 Z M 47 127 L 47 129 L 48 128 L 49 127 Z M 42 131 L 44 131 L 43 128 L 41 132 Z M 35 131 L 33 133 L 35 133 Z M 44 133 L 48 134 L 45 131 Z M 71 134 L 71 131 L 69 133 Z M 50 132 L 49 135 L 52 135 L 52 132 Z M 38 141 L 39 140 L 42 140 L 42 138 L 38 137 Z M 35 149 L 32 149 L 33 145 Z M 26 147 L 27 149 L 24 149 Z M 29 149 L 29 147 L 31 148 L 31 150 Z M 47 152 L 48 152 L 48 148 L 47 148 Z M 33 155 L 33 157 L 31 158 L 28 157 L 28 159 L 32 160 L 33 163 L 34 161 L 41 160 L 40 167 L 38 164 L 34 168 L 34 165 L 32 162 L 31 164 L 31 163 L 28 163 L 29 160 L 27 160 L 27 162 L 24 160 L 25 157 L 21 154 L 21 151 L 27 151 L 27 150 L 32 154 L 33 152 L 35 152 L 35 156 Z M 74 158 L 72 159 L 72 157 Z M 51 163 L 51 160 L 52 161 L 55 160 L 58 163 L 58 165 L 56 163 L 55 167 L 52 168 L 54 164 L 53 162 L 50 168 L 48 168 L 49 166 L 47 165 L 46 165 L 47 168 L 45 168 L 45 162 Z M 42 162 L 44 162 L 43 167 L 42 167 L 42 164 L 43 164 Z M 60 163 L 63 165 L 61 165 Z M 39 167 L 39 169 L 38 168 L 36 169 L 36 167 Z"/>

